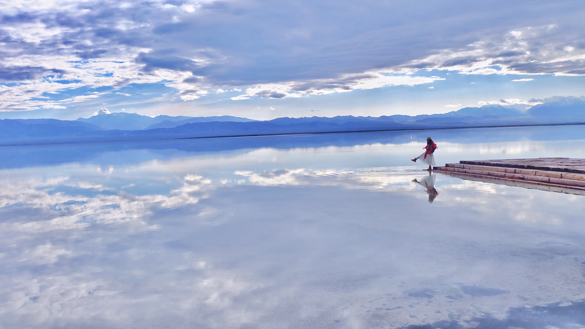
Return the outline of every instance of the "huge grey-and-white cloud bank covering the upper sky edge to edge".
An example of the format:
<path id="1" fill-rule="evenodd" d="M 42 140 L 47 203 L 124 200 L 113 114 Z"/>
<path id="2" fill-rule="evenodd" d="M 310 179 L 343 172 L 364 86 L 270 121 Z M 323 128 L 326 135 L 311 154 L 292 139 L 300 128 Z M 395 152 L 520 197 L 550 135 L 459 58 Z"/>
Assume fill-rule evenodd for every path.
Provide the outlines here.
<path id="1" fill-rule="evenodd" d="M 219 90 L 289 98 L 417 85 L 431 82 L 416 76 L 428 68 L 585 74 L 585 9 L 572 2 L 56 0 L 2 9 L 4 111 L 58 105 L 38 98 L 47 93 L 154 83 L 189 101 Z"/>

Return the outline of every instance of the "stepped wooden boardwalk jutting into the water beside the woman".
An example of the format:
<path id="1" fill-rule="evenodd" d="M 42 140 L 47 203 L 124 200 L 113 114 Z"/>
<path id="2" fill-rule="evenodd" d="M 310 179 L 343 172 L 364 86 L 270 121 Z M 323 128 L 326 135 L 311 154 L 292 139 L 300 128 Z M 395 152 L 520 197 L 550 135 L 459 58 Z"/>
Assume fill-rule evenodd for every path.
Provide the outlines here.
<path id="1" fill-rule="evenodd" d="M 490 183 L 585 195 L 585 159 L 472 160 L 447 163 L 434 170 Z"/>

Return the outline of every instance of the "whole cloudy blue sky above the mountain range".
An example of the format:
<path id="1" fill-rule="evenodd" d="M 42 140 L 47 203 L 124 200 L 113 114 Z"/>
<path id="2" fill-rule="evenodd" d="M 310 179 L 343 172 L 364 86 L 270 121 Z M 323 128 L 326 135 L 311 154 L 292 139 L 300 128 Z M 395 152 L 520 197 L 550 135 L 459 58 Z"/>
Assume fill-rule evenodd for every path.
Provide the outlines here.
<path id="1" fill-rule="evenodd" d="M 418 115 L 585 95 L 582 0 L 0 0 L 0 8 L 0 118 L 77 119 L 101 108 Z"/>

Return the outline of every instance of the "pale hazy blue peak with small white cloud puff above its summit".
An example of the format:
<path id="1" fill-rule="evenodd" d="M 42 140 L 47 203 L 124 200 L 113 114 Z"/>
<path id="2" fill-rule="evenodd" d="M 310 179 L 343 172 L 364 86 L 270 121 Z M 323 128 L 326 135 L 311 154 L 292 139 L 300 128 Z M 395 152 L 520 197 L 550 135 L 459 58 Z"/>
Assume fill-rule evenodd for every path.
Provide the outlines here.
<path id="1" fill-rule="evenodd" d="M 106 130 L 138 130 L 163 121 L 181 121 L 189 118 L 191 118 L 191 116 L 168 115 L 157 115 L 152 118 L 151 116 L 136 113 L 115 112 L 111 114 L 94 115 L 87 119 L 79 118 L 76 121 L 88 122 Z"/>

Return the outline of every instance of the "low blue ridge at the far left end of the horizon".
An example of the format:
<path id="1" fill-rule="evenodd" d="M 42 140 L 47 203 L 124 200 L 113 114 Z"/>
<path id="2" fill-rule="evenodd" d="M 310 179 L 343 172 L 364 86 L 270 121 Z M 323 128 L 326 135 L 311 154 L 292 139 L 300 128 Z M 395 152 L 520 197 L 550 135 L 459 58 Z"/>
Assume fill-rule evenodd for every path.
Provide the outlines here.
<path id="1" fill-rule="evenodd" d="M 102 131 L 87 122 L 57 119 L 4 119 L 0 120 L 0 138 L 46 138 L 75 136 L 81 133 Z"/>

